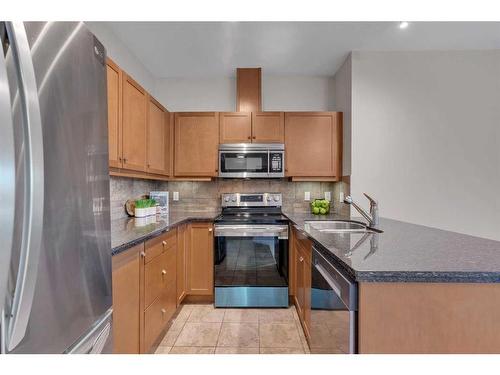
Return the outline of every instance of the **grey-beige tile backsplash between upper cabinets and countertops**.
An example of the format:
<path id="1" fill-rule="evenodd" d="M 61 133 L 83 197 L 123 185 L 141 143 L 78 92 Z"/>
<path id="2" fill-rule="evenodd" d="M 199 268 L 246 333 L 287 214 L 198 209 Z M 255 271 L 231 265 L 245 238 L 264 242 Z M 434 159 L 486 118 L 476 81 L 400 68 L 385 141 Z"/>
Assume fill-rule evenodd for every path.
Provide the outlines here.
<path id="1" fill-rule="evenodd" d="M 122 177 L 111 177 L 111 218 L 127 216 L 124 204 L 127 199 L 148 194 L 151 190 L 170 192 L 171 211 L 214 211 L 220 209 L 222 193 L 279 192 L 283 194 L 283 210 L 308 212 L 309 202 L 304 201 L 304 192 L 311 199 L 323 198 L 326 191 L 332 193 L 334 209 L 338 211 L 339 192 L 348 194 L 349 185 L 344 182 L 291 182 L 285 179 L 216 179 L 214 181 L 149 181 Z M 179 200 L 173 201 L 173 192 L 179 192 Z"/>

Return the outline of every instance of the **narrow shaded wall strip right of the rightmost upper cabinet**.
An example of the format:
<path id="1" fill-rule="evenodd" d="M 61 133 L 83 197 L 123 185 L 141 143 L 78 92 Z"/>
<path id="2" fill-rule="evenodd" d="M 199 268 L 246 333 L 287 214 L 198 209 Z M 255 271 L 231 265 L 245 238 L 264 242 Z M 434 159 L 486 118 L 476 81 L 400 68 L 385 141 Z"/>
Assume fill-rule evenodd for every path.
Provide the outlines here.
<path id="1" fill-rule="evenodd" d="M 351 174 L 351 55 L 347 57 L 334 76 L 335 110 L 343 112 L 342 174 Z"/>

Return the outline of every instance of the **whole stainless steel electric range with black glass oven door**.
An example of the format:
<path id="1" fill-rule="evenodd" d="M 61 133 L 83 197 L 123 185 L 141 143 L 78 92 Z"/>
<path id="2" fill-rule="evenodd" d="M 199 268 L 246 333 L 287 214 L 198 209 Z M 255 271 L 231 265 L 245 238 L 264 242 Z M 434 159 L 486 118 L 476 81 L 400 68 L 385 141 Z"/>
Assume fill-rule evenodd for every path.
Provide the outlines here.
<path id="1" fill-rule="evenodd" d="M 280 193 L 222 194 L 215 307 L 288 307 L 288 219 Z"/>

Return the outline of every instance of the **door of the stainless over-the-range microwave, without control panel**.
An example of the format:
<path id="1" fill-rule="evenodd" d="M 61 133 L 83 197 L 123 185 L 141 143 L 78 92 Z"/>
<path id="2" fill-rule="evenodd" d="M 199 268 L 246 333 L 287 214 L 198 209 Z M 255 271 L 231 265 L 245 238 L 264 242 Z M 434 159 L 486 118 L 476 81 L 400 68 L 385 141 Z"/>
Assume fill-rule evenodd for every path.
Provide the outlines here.
<path id="1" fill-rule="evenodd" d="M 269 152 L 219 151 L 219 177 L 269 177 Z"/>

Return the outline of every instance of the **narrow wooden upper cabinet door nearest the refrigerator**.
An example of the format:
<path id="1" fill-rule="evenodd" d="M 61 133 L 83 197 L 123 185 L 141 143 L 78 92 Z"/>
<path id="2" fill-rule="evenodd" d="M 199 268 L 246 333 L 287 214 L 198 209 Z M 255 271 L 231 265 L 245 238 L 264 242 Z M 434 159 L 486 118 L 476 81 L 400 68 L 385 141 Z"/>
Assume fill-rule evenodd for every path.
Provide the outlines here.
<path id="1" fill-rule="evenodd" d="M 108 84 L 109 166 L 122 167 L 121 102 L 122 71 L 111 59 L 106 65 Z"/>

